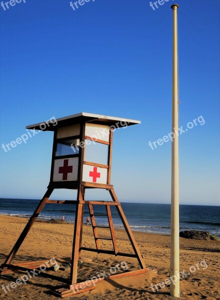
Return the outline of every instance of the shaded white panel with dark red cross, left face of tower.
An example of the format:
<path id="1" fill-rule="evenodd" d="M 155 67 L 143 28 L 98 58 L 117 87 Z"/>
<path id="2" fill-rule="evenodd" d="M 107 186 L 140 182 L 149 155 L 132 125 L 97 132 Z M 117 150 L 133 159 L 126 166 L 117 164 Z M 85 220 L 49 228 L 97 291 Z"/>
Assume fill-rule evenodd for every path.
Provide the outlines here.
<path id="1" fill-rule="evenodd" d="M 76 181 L 78 174 L 78 157 L 54 160 L 53 181 Z"/>

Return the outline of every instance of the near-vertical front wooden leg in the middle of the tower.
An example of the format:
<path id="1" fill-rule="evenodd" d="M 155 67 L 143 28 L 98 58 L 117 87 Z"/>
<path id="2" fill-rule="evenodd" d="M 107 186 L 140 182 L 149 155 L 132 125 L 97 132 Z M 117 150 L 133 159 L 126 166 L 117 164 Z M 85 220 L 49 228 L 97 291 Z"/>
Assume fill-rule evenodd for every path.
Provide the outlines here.
<path id="1" fill-rule="evenodd" d="M 77 201 L 83 200 L 83 186 L 78 188 Z M 81 223 L 83 218 L 83 206 L 84 204 L 77 203 L 75 210 L 75 223 L 74 223 L 74 233 L 73 233 L 73 244 L 72 244 L 72 260 L 71 260 L 71 272 L 70 280 L 71 284 L 76 283 L 77 280 L 77 268 L 78 268 L 78 254 L 79 254 L 79 245 L 80 245 L 80 236 L 81 236 Z"/>

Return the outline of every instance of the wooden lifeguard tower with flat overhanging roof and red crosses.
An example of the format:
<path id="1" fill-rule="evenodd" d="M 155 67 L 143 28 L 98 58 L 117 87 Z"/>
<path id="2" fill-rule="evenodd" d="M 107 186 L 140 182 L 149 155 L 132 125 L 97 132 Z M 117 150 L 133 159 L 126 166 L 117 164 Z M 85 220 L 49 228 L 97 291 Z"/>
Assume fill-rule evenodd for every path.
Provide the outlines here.
<path id="1" fill-rule="evenodd" d="M 70 279 L 58 277 L 59 281 L 68 283 L 70 287 L 76 284 L 78 258 L 81 257 L 81 250 L 113 254 L 115 256 L 121 255 L 134 257 L 138 260 L 140 265 L 139 270 L 111 275 L 111 278 L 114 276 L 118 277 L 123 275 L 136 275 L 137 273 L 144 273 L 148 270 L 148 268 L 145 267 L 143 258 L 134 240 L 120 202 L 118 201 L 113 189 L 113 185 L 111 185 L 110 182 L 113 131 L 116 128 L 138 124 L 140 121 L 81 112 L 57 119 L 57 124 L 55 126 L 54 124 L 49 126 L 49 123 L 50 122 L 47 121 L 26 126 L 27 129 L 54 131 L 50 181 L 44 196 L 40 200 L 37 208 L 21 232 L 5 262 L 1 265 L 1 274 L 7 273 L 14 269 L 26 271 L 28 270 L 28 267 L 29 269 L 37 268 L 39 264 L 42 263 L 42 261 L 40 261 L 39 264 L 37 264 L 37 262 L 11 264 L 11 260 L 13 259 L 25 236 L 46 203 L 76 205 Z M 42 126 L 42 124 L 44 125 Z M 55 188 L 76 189 L 77 199 L 49 199 L 49 196 Z M 109 191 L 112 201 L 85 200 L 86 188 L 106 189 Z M 88 205 L 96 248 L 87 248 L 81 246 L 84 205 Z M 111 235 L 110 240 L 112 240 L 113 245 L 112 250 L 100 248 L 100 239 L 106 238 L 102 238 L 98 235 L 98 227 L 101 226 L 98 226 L 95 223 L 96 214 L 93 211 L 93 205 L 105 206 L 105 215 L 108 219 L 108 228 Z M 124 253 L 118 251 L 111 217 L 110 207 L 112 205 L 114 205 L 117 209 L 134 253 Z M 41 272 L 39 275 L 51 277 L 57 280 L 57 276 L 51 274 L 45 274 Z M 56 292 L 62 297 L 69 296 L 73 294 L 70 287 L 61 288 Z M 83 289 L 83 291 L 91 288 L 92 287 Z"/>

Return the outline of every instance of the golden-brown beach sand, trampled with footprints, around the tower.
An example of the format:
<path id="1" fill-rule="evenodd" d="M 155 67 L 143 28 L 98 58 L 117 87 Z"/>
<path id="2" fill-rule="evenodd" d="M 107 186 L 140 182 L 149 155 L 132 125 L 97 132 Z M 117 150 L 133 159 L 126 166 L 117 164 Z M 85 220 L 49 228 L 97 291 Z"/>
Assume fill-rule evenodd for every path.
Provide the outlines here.
<path id="1" fill-rule="evenodd" d="M 26 218 L 0 215 L 0 263 L 11 250 L 22 228 L 27 222 Z M 108 229 L 99 228 L 100 235 L 109 237 Z M 55 258 L 61 264 L 70 262 L 72 244 L 72 224 L 52 224 L 35 222 L 13 262 L 32 261 Z M 131 245 L 124 230 L 115 230 L 119 251 L 132 252 Z M 173 299 L 169 296 L 169 287 L 160 283 L 169 278 L 169 246 L 170 237 L 159 234 L 149 234 L 133 231 L 134 237 L 144 257 L 146 266 L 150 269 L 142 276 L 123 277 L 100 281 L 96 288 L 74 297 L 80 299 Z M 83 226 L 82 246 L 95 247 L 91 226 Z M 104 240 L 102 248 L 112 249 L 110 241 Z M 184 271 L 184 278 L 180 280 L 180 299 L 220 299 L 220 241 L 217 240 L 191 240 L 180 238 L 180 270 Z M 78 266 L 78 280 L 85 280 L 91 276 L 115 271 L 128 267 L 129 270 L 138 269 L 135 258 L 97 254 L 82 251 L 82 264 Z M 123 268 L 122 268 L 123 266 Z M 118 270 L 119 268 L 119 270 Z M 69 269 L 57 272 L 48 271 L 62 277 L 68 277 Z M 56 280 L 34 276 L 26 284 L 21 281 L 10 291 L 5 293 L 2 284 L 20 278 L 24 273 L 12 272 L 0 276 L 0 298 L 5 299 L 55 299 L 51 290 L 64 286 Z M 168 281 L 166 281 L 168 282 Z M 150 284 L 154 286 L 153 292 Z M 13 285 L 12 285 L 13 286 Z"/>

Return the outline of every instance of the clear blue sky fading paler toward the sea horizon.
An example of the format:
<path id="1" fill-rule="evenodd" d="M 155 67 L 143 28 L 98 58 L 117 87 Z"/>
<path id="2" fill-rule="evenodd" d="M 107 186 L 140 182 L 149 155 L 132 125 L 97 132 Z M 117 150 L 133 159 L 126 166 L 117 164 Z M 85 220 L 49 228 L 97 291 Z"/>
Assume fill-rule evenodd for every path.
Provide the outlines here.
<path id="1" fill-rule="evenodd" d="M 5 2 L 5 1 L 3 1 Z M 172 11 L 148 0 L 26 0 L 0 6 L 0 145 L 25 126 L 85 111 L 141 120 L 114 132 L 112 178 L 121 201 L 169 203 Z M 178 0 L 181 204 L 219 204 L 218 0 Z M 1 197 L 41 198 L 52 132 L 0 148 Z M 53 198 L 72 198 L 56 190 Z M 93 190 L 91 198 L 107 198 Z"/>

